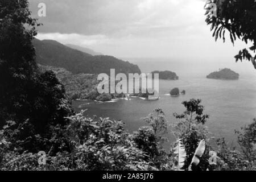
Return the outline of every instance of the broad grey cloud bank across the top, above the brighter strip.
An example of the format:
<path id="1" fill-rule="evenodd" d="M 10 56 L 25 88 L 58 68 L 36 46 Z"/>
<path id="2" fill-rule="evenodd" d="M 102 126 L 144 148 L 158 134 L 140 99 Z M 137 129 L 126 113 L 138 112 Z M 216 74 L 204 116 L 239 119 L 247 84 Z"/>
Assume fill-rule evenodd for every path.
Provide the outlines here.
<path id="1" fill-rule="evenodd" d="M 37 17 L 40 2 L 46 3 L 46 17 Z M 40 32 L 82 35 L 141 35 L 155 28 L 199 23 L 204 12 L 198 0 L 30 0 L 30 4 L 33 16 L 44 24 Z"/>

